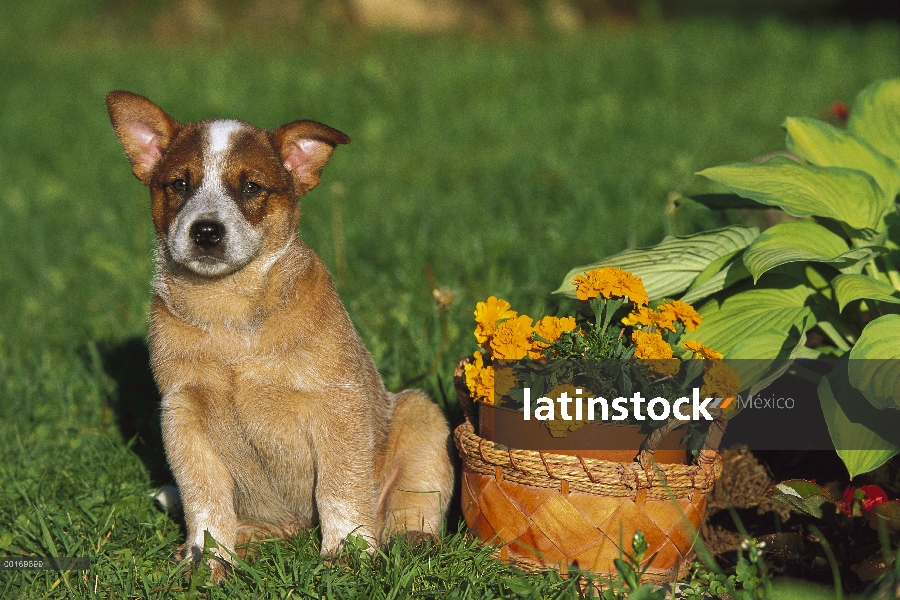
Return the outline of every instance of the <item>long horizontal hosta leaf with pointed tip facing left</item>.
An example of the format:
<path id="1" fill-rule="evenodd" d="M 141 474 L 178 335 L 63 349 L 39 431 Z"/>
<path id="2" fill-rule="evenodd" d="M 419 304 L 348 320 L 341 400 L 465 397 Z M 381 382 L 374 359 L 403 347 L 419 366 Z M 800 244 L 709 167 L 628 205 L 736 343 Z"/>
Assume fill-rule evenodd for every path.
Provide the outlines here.
<path id="1" fill-rule="evenodd" d="M 731 188 L 736 194 L 795 217 L 827 217 L 854 229 L 881 231 L 891 209 L 871 175 L 841 167 L 801 165 L 776 156 L 763 164 L 735 163 L 704 169 L 698 175 Z"/>

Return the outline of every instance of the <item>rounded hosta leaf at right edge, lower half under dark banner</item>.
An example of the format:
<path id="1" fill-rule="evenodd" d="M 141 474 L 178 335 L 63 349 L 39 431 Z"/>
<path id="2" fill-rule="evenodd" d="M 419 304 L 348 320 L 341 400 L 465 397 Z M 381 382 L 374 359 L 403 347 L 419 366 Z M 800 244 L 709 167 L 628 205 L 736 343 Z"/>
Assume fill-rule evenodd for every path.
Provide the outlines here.
<path id="1" fill-rule="evenodd" d="M 850 383 L 876 408 L 900 408 L 900 315 L 866 325 L 850 351 Z"/>

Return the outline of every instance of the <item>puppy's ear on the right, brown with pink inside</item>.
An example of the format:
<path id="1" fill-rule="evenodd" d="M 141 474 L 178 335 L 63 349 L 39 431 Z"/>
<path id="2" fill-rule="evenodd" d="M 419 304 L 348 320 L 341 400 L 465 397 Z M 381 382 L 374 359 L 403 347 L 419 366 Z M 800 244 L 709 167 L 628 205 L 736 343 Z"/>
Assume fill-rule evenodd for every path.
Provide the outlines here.
<path id="1" fill-rule="evenodd" d="M 305 194 L 319 183 L 319 175 L 335 146 L 349 144 L 350 138 L 328 125 L 315 121 L 294 121 L 272 131 L 275 147 L 297 193 Z"/>

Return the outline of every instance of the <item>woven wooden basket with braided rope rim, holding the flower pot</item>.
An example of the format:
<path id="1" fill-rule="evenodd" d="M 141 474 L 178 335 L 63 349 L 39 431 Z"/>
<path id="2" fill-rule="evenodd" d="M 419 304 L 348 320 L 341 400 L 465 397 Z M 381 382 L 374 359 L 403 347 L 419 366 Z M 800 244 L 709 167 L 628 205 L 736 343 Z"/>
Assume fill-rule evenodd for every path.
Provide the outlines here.
<path id="1" fill-rule="evenodd" d="M 483 541 L 526 568 L 569 565 L 614 573 L 640 529 L 653 559 L 647 579 L 663 580 L 693 548 L 706 494 L 722 472 L 718 453 L 696 465 L 618 463 L 516 450 L 478 436 L 467 421 L 455 433 L 463 458 L 462 508 Z M 620 552 L 620 545 L 621 552 Z"/>

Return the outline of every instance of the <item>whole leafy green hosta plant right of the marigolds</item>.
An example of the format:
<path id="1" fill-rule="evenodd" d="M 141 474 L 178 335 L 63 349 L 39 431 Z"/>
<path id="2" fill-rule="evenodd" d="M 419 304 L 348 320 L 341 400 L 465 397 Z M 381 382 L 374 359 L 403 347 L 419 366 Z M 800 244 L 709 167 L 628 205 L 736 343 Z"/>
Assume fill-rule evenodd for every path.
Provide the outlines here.
<path id="1" fill-rule="evenodd" d="M 805 117 L 784 128 L 790 158 L 705 169 L 732 193 L 693 198 L 779 208 L 783 222 L 668 237 L 573 269 L 557 292 L 574 296 L 575 275 L 614 265 L 642 277 L 651 305 L 697 305 L 704 327 L 692 339 L 757 359 L 741 374 L 751 394 L 791 359 L 838 359 L 818 395 L 852 477 L 900 451 L 885 434 L 900 428 L 900 79 L 860 93 L 846 128 Z M 811 332 L 824 343 L 808 343 Z"/>

